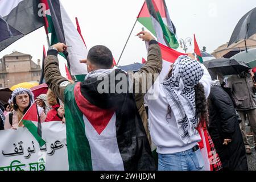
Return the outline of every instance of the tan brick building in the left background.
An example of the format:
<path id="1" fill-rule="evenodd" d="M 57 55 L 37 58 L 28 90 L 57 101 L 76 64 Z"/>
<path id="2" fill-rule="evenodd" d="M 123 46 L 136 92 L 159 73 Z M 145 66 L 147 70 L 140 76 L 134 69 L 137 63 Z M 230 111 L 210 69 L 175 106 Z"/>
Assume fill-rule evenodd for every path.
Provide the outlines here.
<path id="1" fill-rule="evenodd" d="M 32 61 L 32 56 L 13 52 L 0 59 L 0 88 L 11 88 L 21 82 L 39 81 L 41 76 L 40 60 Z"/>

